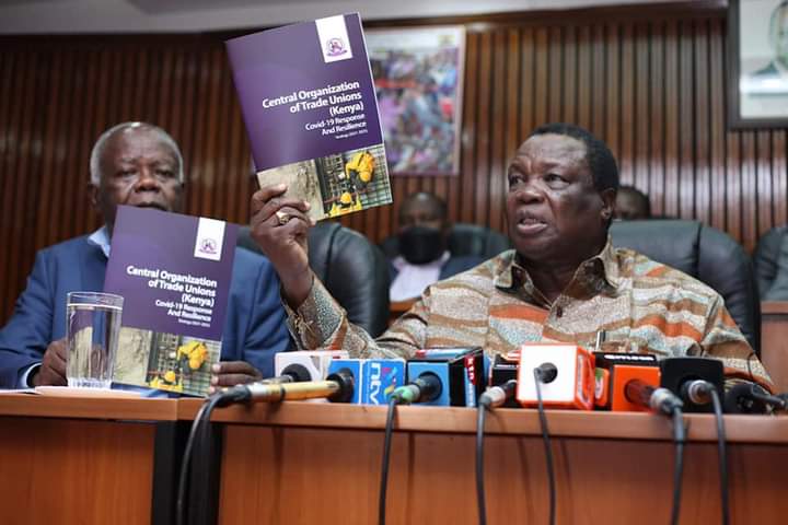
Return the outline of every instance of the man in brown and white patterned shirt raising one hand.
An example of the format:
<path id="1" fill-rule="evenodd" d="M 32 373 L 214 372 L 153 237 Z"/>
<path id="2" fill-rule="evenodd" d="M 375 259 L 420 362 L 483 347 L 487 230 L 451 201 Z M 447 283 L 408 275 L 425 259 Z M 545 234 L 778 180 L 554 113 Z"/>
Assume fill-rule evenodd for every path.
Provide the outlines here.
<path id="1" fill-rule="evenodd" d="M 729 377 L 770 386 L 725 307 L 702 282 L 607 235 L 618 168 L 582 128 L 547 125 L 520 147 L 507 173 L 513 250 L 429 287 L 385 334 L 372 339 L 314 278 L 306 259 L 308 205 L 265 187 L 253 197 L 252 232 L 282 283 L 301 348 L 352 355 L 410 357 L 417 349 L 480 346 L 503 353 L 523 342 L 587 348 L 605 330 L 605 350 L 721 359 Z"/>

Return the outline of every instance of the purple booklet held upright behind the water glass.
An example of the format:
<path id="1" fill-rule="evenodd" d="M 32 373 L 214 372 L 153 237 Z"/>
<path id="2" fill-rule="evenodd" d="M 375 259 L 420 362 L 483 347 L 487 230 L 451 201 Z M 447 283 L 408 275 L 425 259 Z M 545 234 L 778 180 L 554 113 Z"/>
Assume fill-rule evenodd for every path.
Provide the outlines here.
<path id="1" fill-rule="evenodd" d="M 104 279 L 124 298 L 114 382 L 208 394 L 236 237 L 235 224 L 118 207 Z"/>

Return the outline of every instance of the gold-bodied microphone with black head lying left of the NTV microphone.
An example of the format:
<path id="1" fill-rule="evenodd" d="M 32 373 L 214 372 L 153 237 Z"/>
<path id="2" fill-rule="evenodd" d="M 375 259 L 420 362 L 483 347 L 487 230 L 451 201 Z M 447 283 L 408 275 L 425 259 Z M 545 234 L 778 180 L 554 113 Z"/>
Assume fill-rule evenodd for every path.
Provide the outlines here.
<path id="1" fill-rule="evenodd" d="M 325 381 L 304 383 L 251 383 L 237 385 L 222 394 L 234 402 L 279 402 L 297 399 L 327 398 L 334 402 L 347 402 L 356 390 L 356 381 L 348 370 L 329 374 Z"/>

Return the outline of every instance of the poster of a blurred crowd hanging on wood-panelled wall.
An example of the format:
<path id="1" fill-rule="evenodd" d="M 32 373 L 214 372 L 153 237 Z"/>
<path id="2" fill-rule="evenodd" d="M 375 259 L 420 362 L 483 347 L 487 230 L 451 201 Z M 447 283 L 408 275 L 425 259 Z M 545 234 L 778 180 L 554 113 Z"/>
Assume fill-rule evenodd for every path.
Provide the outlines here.
<path id="1" fill-rule="evenodd" d="M 366 35 L 391 174 L 456 175 L 465 28 L 369 30 Z"/>

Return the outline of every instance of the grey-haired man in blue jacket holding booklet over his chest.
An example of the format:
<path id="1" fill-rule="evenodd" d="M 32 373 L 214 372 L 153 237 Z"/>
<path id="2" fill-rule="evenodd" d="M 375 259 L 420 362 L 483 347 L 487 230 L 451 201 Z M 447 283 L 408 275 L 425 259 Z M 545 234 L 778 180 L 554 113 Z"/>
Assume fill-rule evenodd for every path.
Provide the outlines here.
<path id="1" fill-rule="evenodd" d="M 124 122 L 108 129 L 93 147 L 90 168 L 91 203 L 105 224 L 36 255 L 27 288 L 0 330 L 0 388 L 66 385 L 66 294 L 103 289 L 118 205 L 182 209 L 183 156 L 157 126 Z M 273 375 L 274 354 L 289 345 L 270 262 L 237 248 L 212 388 Z"/>

